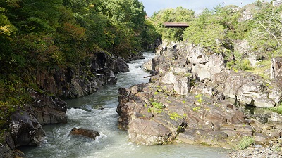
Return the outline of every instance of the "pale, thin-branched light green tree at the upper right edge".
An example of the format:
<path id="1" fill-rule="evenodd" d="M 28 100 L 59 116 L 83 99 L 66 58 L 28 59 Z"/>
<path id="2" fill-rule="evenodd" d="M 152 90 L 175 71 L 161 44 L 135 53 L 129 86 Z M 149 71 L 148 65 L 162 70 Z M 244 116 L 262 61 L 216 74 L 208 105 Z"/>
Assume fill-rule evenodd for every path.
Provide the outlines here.
<path id="1" fill-rule="evenodd" d="M 282 55 L 282 52 L 279 52 L 282 44 L 281 7 L 274 8 L 271 4 L 261 1 L 254 5 L 256 9 L 248 41 L 253 49 L 266 57 L 273 55 L 272 52 L 276 50 Z"/>

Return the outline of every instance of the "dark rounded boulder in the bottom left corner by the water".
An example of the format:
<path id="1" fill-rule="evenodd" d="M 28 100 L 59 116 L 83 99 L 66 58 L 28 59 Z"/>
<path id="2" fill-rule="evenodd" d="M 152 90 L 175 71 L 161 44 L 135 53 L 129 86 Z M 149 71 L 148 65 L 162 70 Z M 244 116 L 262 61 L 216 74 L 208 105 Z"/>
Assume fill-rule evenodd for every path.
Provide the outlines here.
<path id="1" fill-rule="evenodd" d="M 30 110 L 30 105 L 25 105 Z M 11 114 L 9 131 L 3 134 L 0 144 L 0 157 L 23 156 L 16 147 L 24 145 L 39 146 L 44 140 L 45 132 L 41 124 L 30 112 L 17 110 Z"/>

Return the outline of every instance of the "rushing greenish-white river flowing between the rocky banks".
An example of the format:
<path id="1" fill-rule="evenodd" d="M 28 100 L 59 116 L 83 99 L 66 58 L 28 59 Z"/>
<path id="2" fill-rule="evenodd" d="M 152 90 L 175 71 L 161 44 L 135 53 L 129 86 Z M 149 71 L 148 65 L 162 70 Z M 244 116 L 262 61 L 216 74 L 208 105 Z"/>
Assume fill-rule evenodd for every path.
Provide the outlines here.
<path id="1" fill-rule="evenodd" d="M 145 60 L 154 58 L 144 53 Z M 129 63 L 130 72 L 117 74 L 116 85 L 105 86 L 93 95 L 66 100 L 68 124 L 45 125 L 46 140 L 40 147 L 22 147 L 25 157 L 89 157 L 89 158 L 183 158 L 183 157 L 228 157 L 228 152 L 219 148 L 176 143 L 172 145 L 145 146 L 128 141 L 128 133 L 118 129 L 118 88 L 148 82 L 149 75 L 140 68 L 145 60 Z M 73 107 L 80 107 L 73 108 Z M 70 136 L 73 127 L 94 129 L 100 135 L 96 140 L 82 136 Z"/>

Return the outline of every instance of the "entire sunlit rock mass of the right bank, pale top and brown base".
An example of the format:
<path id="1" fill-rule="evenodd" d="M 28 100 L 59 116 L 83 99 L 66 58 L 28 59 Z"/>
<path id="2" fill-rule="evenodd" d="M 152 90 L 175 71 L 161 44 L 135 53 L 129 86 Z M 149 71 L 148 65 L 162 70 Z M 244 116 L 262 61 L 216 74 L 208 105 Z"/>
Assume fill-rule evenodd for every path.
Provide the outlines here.
<path id="1" fill-rule="evenodd" d="M 118 122 L 132 142 L 238 149 L 252 138 L 254 145 L 281 150 L 282 115 L 266 110 L 281 103 L 278 58 L 269 67 L 275 80 L 268 80 L 228 69 L 224 54 L 185 42 L 159 46 L 157 54 L 143 65 L 151 71 L 149 83 L 119 89 Z"/>

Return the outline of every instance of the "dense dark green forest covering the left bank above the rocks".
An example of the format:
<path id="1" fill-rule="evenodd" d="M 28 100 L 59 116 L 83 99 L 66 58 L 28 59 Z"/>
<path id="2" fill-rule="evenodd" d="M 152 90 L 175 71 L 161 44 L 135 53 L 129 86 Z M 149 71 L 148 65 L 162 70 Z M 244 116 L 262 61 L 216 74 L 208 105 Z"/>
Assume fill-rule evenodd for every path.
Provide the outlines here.
<path id="1" fill-rule="evenodd" d="M 137 0 L 0 1 L 0 129 L 39 90 L 36 70 L 75 67 L 99 50 L 126 57 L 158 34 Z"/>

